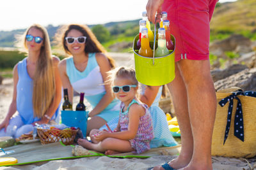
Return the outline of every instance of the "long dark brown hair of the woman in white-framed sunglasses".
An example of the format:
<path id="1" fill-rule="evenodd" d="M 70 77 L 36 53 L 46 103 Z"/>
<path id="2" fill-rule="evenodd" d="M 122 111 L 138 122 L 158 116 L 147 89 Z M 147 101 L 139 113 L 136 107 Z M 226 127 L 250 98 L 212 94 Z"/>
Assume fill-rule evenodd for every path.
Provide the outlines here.
<path id="1" fill-rule="evenodd" d="M 66 45 L 66 37 L 68 32 L 72 29 L 76 29 L 77 31 L 81 32 L 83 36 L 86 36 L 86 45 L 84 48 L 85 53 L 104 53 L 109 60 L 110 66 L 113 68 L 115 67 L 115 60 L 111 58 L 105 48 L 100 44 L 97 40 L 96 36 L 90 30 L 87 25 L 80 25 L 80 24 L 70 24 L 70 25 L 63 25 L 60 29 L 58 29 L 55 35 L 55 43 L 60 47 L 62 46 L 66 53 L 71 54 L 68 50 Z"/>

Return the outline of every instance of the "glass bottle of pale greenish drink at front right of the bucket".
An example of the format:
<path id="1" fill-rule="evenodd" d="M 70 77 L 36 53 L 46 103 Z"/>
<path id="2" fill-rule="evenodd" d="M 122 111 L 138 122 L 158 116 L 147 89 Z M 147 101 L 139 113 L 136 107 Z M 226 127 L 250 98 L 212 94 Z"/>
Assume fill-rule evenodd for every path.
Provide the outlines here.
<path id="1" fill-rule="evenodd" d="M 163 57 L 165 55 L 168 55 L 169 53 L 170 52 L 169 52 L 168 48 L 166 47 L 165 29 L 159 28 L 158 29 L 158 42 L 157 42 L 155 57 Z"/>

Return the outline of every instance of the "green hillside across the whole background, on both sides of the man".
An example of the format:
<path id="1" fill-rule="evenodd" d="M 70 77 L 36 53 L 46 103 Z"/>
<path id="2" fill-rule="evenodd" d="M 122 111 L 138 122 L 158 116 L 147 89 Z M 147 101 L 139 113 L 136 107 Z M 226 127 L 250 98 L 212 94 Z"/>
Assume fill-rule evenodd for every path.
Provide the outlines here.
<path id="1" fill-rule="evenodd" d="M 230 3 L 218 3 L 211 20 L 211 41 L 224 39 L 230 34 L 243 34 L 247 38 L 256 39 L 256 1 L 237 0 Z M 139 18 L 140 16 L 138 16 Z M 124 22 L 109 22 L 102 26 L 108 29 L 109 37 L 102 44 L 109 50 L 109 46 L 115 43 L 125 42 L 124 46 L 132 43 L 133 37 L 138 34 L 138 20 Z M 93 28 L 95 25 L 88 25 Z M 60 26 L 48 25 L 50 39 Z M 15 34 L 24 32 L 24 29 L 13 31 L 0 31 L 0 47 L 12 47 Z M 96 34 L 96 36 L 98 36 Z M 104 36 L 104 35 L 103 35 Z M 119 46 L 118 46 L 119 48 Z M 122 48 L 122 47 L 121 47 Z M 126 47 L 124 47 L 126 48 Z M 122 49 L 121 49 L 122 51 Z"/>

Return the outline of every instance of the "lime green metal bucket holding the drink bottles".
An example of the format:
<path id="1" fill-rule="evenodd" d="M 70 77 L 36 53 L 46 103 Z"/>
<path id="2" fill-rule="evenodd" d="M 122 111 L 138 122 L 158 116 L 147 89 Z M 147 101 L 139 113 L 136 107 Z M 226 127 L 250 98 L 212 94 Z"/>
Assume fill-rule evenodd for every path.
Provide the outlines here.
<path id="1" fill-rule="evenodd" d="M 175 38 L 171 34 L 174 44 L 174 50 L 170 50 L 170 54 L 163 57 L 143 57 L 138 54 L 136 44 L 140 38 L 139 34 L 135 36 L 133 41 L 134 63 L 137 80 L 150 86 L 159 86 L 170 83 L 175 78 Z M 150 41 L 150 47 L 153 49 L 154 41 Z M 157 41 L 156 41 L 157 48 Z"/>

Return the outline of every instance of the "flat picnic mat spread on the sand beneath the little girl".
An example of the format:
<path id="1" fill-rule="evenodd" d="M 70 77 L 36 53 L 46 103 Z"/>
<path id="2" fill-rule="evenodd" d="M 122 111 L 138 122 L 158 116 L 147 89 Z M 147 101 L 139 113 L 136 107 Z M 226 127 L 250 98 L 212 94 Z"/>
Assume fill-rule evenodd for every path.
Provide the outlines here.
<path id="1" fill-rule="evenodd" d="M 49 160 L 76 159 L 81 157 L 97 156 L 144 159 L 152 155 L 176 155 L 180 152 L 180 146 L 153 148 L 152 150 L 141 154 L 133 154 L 129 152 L 116 155 L 104 155 L 102 153 L 93 152 L 93 155 L 73 156 L 72 146 L 61 145 L 61 143 L 50 143 L 47 145 L 41 145 L 41 143 L 36 142 L 4 148 L 4 152 L 0 152 L 0 157 L 14 157 L 18 160 L 17 164 L 10 164 L 8 166 L 17 166 Z"/>

